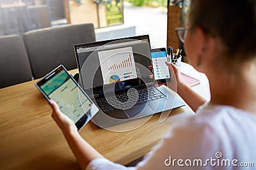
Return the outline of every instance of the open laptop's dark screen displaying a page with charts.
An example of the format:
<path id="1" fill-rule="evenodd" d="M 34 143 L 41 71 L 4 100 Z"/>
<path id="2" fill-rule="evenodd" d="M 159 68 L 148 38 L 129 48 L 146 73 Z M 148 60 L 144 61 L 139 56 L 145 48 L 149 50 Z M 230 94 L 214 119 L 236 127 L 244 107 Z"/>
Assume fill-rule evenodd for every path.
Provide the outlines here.
<path id="1" fill-rule="evenodd" d="M 150 41 L 148 35 L 75 45 L 80 83 L 84 90 L 100 94 L 115 86 L 115 91 L 141 87 L 148 78 Z"/>

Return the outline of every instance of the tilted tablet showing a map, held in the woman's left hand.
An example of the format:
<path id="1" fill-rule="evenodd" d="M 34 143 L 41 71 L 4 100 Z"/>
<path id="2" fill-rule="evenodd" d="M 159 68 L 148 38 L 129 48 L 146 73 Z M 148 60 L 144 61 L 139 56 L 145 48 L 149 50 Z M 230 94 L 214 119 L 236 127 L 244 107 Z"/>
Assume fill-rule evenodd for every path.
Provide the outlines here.
<path id="1" fill-rule="evenodd" d="M 78 130 L 99 111 L 62 65 L 35 85 L 47 99 L 52 99 L 58 104 L 61 112 L 73 120 Z"/>

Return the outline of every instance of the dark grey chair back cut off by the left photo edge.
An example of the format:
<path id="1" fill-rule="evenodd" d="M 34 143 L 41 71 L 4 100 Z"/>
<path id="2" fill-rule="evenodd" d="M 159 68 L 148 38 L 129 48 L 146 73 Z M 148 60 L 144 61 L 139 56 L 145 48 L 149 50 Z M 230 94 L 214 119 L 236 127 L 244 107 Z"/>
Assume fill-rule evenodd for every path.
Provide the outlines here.
<path id="1" fill-rule="evenodd" d="M 0 36 L 0 89 L 32 80 L 21 36 Z"/>

